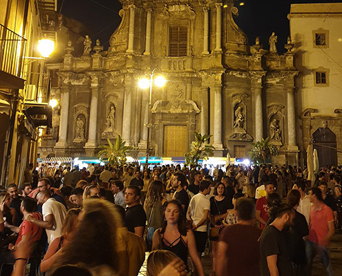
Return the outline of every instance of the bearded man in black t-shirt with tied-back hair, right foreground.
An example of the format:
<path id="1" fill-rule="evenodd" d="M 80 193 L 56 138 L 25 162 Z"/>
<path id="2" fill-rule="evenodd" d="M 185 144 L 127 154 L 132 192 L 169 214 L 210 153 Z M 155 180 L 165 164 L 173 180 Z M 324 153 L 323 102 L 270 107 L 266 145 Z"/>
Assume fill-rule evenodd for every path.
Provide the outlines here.
<path id="1" fill-rule="evenodd" d="M 289 204 L 274 203 L 269 209 L 274 220 L 263 230 L 260 238 L 260 268 L 262 276 L 292 276 L 292 262 L 289 259 L 283 230 L 289 229 L 294 220 L 294 210 Z"/>

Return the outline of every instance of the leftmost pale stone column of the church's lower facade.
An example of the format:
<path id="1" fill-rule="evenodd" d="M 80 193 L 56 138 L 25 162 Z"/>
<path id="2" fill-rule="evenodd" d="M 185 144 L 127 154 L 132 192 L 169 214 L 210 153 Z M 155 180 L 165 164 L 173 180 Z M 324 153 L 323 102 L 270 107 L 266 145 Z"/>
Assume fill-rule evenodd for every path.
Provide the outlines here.
<path id="1" fill-rule="evenodd" d="M 70 86 L 61 86 L 61 119 L 59 120 L 59 139 L 56 148 L 66 148 L 69 113 L 69 89 Z"/>

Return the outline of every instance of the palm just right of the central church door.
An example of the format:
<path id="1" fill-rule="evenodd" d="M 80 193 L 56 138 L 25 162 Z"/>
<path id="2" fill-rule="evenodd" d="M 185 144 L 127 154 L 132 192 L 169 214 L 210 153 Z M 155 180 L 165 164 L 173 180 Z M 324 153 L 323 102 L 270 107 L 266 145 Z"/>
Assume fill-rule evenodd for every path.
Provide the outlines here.
<path id="1" fill-rule="evenodd" d="M 185 164 L 198 166 L 198 161 L 200 159 L 207 160 L 209 156 L 213 156 L 215 147 L 207 143 L 212 135 L 201 135 L 200 132 L 193 132 L 195 133 L 195 141 L 191 143 L 189 152 L 184 155 Z"/>

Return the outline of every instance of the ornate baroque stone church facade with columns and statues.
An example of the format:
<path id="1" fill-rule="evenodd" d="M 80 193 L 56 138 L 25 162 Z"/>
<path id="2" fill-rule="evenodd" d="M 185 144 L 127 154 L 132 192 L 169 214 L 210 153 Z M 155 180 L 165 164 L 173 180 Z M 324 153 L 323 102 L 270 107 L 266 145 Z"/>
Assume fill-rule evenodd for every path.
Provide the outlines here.
<path id="1" fill-rule="evenodd" d="M 291 39 L 283 55 L 274 34 L 267 50 L 258 38 L 249 46 L 234 22 L 234 0 L 120 2 L 108 51 L 89 37 L 81 57 L 66 47 L 55 155 L 96 156 L 107 138 L 122 135 L 144 156 L 149 90 L 138 81 L 158 67 L 155 76 L 167 83 L 152 89 L 151 155 L 184 156 L 196 130 L 212 135 L 215 156 L 247 157 L 251 142 L 270 137 L 275 164 L 298 164 Z"/>

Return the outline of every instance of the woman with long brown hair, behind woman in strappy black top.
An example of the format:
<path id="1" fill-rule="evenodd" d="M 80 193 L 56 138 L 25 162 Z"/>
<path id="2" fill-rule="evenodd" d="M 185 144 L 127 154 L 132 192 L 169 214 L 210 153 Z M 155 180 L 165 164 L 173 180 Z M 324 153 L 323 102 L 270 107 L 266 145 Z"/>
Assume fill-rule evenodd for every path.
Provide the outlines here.
<path id="1" fill-rule="evenodd" d="M 167 202 L 164 199 L 164 184 L 162 181 L 155 180 L 151 182 L 151 186 L 147 191 L 146 199 L 144 202 L 144 210 L 147 218 L 147 235 L 146 239 L 152 244 L 153 234 L 155 230 L 162 227 L 164 212 L 162 210 L 163 204 Z"/>

